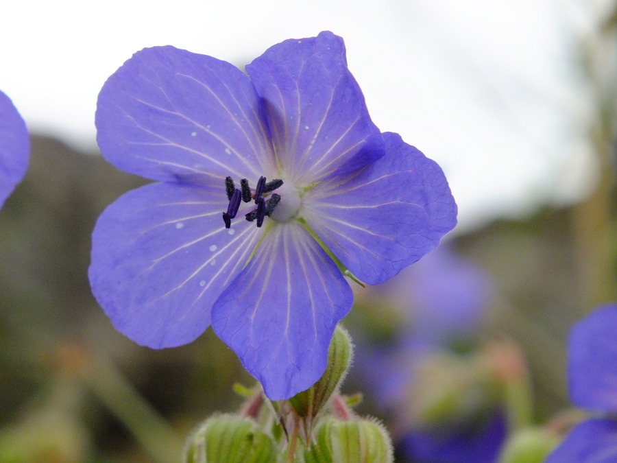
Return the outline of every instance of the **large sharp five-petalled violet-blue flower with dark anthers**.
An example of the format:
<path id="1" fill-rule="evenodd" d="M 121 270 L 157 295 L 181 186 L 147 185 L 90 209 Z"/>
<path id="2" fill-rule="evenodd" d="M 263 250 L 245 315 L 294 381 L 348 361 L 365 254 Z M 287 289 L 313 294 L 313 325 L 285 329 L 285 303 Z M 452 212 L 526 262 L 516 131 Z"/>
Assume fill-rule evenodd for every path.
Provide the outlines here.
<path id="1" fill-rule="evenodd" d="M 439 166 L 372 123 L 330 32 L 246 66 L 143 49 L 99 94 L 110 163 L 151 185 L 108 207 L 89 276 L 114 326 L 152 348 L 210 324 L 270 399 L 309 388 L 352 305 L 456 223 Z"/>

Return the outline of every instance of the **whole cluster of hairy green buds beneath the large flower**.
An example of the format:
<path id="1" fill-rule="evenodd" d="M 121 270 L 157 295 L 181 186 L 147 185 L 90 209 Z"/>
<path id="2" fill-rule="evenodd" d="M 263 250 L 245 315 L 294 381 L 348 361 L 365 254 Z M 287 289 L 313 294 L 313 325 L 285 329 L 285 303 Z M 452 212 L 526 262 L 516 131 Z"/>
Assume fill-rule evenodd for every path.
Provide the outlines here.
<path id="1" fill-rule="evenodd" d="M 351 359 L 350 337 L 337 327 L 326 371 L 308 390 L 273 402 L 261 388 L 237 388 L 246 396 L 239 412 L 202 423 L 186 444 L 184 462 L 394 462 L 384 427 L 354 414 L 359 396 L 339 393 Z"/>

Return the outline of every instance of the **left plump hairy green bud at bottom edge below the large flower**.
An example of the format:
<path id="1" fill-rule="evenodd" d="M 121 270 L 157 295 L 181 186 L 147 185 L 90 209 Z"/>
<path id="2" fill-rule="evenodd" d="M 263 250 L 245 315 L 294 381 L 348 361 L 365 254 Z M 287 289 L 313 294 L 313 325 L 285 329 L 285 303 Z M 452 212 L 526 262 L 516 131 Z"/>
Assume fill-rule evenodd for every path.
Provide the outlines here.
<path id="1" fill-rule="evenodd" d="M 186 463 L 272 463 L 278 461 L 274 442 L 254 420 L 235 415 L 208 418 L 189 438 Z"/>

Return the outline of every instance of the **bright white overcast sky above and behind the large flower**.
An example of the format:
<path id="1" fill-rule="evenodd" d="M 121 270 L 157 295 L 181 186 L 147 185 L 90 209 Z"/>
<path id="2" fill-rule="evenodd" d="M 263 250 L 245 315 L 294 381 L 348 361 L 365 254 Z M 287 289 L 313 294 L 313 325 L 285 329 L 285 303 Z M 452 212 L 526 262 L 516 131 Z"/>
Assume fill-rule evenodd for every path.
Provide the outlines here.
<path id="1" fill-rule="evenodd" d="M 0 88 L 31 131 L 92 148 L 99 89 L 134 51 L 169 44 L 245 64 L 329 29 L 377 126 L 444 167 L 463 230 L 579 198 L 594 176 L 573 125 L 586 121 L 565 1 L 11 1 Z"/>

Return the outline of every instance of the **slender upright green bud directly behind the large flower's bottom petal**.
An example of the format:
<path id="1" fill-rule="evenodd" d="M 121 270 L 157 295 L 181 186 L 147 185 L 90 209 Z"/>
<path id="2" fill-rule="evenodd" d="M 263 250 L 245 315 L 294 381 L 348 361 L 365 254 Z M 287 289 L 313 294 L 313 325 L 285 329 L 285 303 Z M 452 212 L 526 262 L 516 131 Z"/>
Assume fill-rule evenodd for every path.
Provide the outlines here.
<path id="1" fill-rule="evenodd" d="M 352 353 L 349 334 L 345 329 L 337 326 L 330 342 L 330 348 L 328 348 L 328 366 L 326 366 L 324 375 L 309 389 L 299 392 L 289 399 L 289 403 L 298 415 L 302 418 L 308 418 L 311 422 L 324 408 L 347 374 Z"/>

